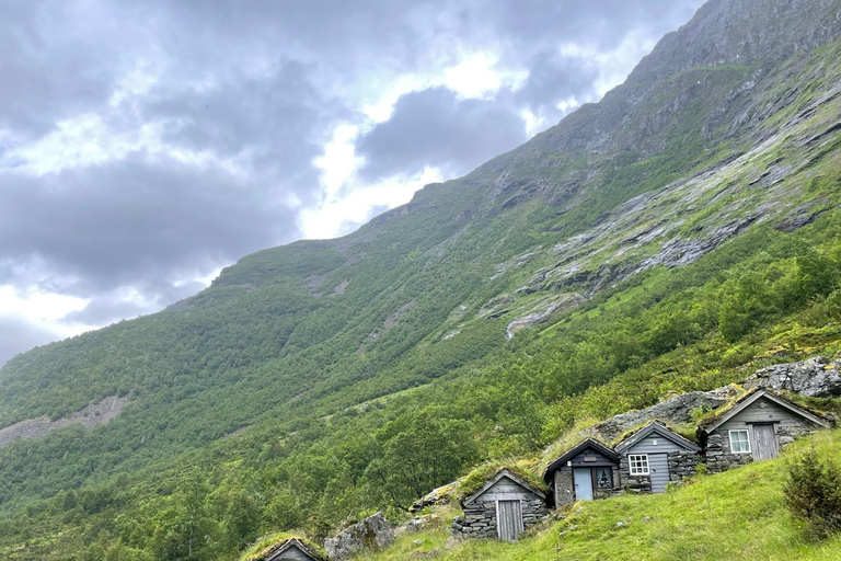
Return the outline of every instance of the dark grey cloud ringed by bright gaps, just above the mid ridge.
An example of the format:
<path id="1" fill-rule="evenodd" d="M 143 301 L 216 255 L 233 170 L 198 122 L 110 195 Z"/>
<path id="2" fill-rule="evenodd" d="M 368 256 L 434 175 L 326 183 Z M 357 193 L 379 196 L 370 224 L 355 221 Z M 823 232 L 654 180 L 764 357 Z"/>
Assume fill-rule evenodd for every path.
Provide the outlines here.
<path id="1" fill-rule="evenodd" d="M 391 118 L 359 141 L 371 180 L 436 165 L 451 174 L 475 168 L 526 140 L 522 119 L 495 100 L 459 100 L 446 88 L 403 95 Z"/>

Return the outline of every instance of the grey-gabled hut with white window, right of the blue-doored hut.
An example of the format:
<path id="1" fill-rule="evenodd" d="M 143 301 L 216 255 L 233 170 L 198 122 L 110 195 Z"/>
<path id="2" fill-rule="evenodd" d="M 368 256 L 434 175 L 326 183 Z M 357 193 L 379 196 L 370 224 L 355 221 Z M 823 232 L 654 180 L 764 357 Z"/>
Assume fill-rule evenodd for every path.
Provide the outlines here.
<path id="1" fill-rule="evenodd" d="M 664 424 L 648 423 L 615 447 L 622 488 L 663 493 L 670 482 L 694 476 L 701 447 Z"/>

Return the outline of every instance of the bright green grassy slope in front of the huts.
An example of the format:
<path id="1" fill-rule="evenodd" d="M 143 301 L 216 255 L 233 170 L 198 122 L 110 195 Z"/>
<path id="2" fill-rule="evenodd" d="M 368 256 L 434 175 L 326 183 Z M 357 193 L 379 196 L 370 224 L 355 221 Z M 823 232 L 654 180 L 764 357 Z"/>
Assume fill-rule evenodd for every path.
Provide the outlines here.
<path id="1" fill-rule="evenodd" d="M 666 494 L 576 503 L 568 517 L 546 523 L 516 545 L 448 545 L 453 513 L 442 510 L 435 529 L 403 535 L 388 551 L 360 559 L 422 558 L 433 549 L 442 561 L 841 559 L 841 536 L 811 539 L 783 503 L 786 459 L 809 446 L 841 462 L 841 431 L 822 432 L 790 446 L 779 460 L 702 476 Z"/>

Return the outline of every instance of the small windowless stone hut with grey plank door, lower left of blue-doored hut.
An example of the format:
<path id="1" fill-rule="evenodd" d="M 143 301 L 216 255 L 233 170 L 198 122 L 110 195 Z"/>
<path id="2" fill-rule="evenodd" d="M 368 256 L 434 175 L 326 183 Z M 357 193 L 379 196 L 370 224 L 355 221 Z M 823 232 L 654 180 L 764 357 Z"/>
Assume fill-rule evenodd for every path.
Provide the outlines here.
<path id="1" fill-rule="evenodd" d="M 515 541 L 527 528 L 549 516 L 546 493 L 508 469 L 462 501 L 463 516 L 452 523 L 461 538 Z"/>

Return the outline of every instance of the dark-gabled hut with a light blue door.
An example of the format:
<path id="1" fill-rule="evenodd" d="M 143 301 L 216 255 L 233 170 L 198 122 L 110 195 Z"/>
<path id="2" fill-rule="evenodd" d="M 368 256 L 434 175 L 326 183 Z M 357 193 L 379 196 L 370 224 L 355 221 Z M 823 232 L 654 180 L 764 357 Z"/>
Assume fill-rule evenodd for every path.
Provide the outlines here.
<path id="1" fill-rule="evenodd" d="M 619 456 L 600 442 L 586 438 L 552 461 L 543 481 L 552 490 L 555 507 L 606 499 L 622 489 Z"/>

